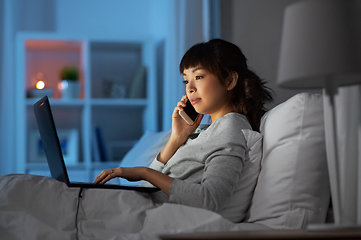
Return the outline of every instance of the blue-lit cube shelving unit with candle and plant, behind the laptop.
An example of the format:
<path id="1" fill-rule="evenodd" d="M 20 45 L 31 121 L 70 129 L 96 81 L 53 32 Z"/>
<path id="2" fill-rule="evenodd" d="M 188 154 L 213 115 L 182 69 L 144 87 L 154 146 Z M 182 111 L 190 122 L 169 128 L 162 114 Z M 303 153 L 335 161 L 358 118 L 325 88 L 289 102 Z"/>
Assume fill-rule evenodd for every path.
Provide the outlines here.
<path id="1" fill-rule="evenodd" d="M 156 48 L 151 38 L 28 32 L 19 33 L 16 44 L 15 138 L 24 146 L 16 152 L 17 172 L 49 175 L 45 158 L 33 154 L 42 151 L 33 111 L 41 97 L 28 96 L 34 96 L 31 90 L 40 80 L 53 90 L 49 101 L 58 133 L 78 134 L 72 141 L 77 163 L 67 166 L 71 180 L 91 181 L 96 172 L 119 166 L 147 130 L 158 130 Z M 64 66 L 79 69 L 79 98 L 62 99 L 58 85 Z M 94 149 L 100 147 L 94 144 L 94 129 L 101 133 L 107 162 L 94 161 L 99 160 Z"/>

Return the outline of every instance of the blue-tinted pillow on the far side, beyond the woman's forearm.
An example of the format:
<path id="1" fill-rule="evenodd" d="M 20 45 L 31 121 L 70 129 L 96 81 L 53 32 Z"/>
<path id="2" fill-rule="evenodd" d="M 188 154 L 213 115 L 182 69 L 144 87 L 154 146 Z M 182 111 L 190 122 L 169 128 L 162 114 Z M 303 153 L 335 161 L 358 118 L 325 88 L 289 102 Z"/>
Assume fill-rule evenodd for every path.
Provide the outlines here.
<path id="1" fill-rule="evenodd" d="M 139 141 L 129 150 L 119 164 L 119 167 L 148 167 L 168 142 L 171 130 L 163 132 L 146 131 Z M 138 185 L 139 182 L 129 182 L 120 179 L 121 184 Z"/>

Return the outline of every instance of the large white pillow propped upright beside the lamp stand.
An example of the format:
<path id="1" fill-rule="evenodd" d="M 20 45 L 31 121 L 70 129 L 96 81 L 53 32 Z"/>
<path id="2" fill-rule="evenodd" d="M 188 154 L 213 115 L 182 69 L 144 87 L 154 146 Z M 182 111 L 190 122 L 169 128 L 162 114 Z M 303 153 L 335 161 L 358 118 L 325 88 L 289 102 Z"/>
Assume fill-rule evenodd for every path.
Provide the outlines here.
<path id="1" fill-rule="evenodd" d="M 248 222 L 274 229 L 324 223 L 330 200 L 322 95 L 302 93 L 261 121 L 263 159 Z"/>

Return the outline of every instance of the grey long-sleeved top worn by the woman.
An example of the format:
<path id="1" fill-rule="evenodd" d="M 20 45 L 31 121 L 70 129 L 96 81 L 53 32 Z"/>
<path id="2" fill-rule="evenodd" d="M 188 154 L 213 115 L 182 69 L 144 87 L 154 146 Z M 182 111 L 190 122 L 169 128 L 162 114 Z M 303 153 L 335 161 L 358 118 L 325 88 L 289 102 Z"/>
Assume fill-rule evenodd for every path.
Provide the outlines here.
<path id="1" fill-rule="evenodd" d="M 228 113 L 197 138 L 188 139 L 167 164 L 155 159 L 150 168 L 174 178 L 169 199 L 158 196 L 157 202 L 200 207 L 222 214 L 232 202 L 245 165 L 244 129 L 252 129 L 247 118 Z"/>

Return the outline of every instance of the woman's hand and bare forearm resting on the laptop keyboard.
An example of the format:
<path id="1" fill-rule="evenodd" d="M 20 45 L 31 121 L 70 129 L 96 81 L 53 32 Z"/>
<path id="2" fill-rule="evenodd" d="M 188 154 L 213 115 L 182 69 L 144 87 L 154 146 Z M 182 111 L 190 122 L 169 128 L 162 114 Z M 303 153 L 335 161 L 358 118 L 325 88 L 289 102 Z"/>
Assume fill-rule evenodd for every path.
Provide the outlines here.
<path id="1" fill-rule="evenodd" d="M 139 181 L 143 180 L 142 172 L 144 172 L 144 167 L 133 167 L 133 168 L 112 168 L 103 170 L 96 178 L 95 184 L 104 184 L 112 178 L 121 177 L 125 178 L 128 181 Z"/>

